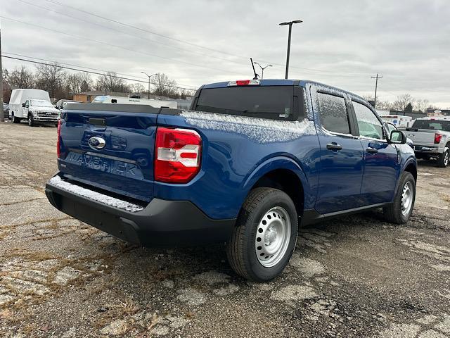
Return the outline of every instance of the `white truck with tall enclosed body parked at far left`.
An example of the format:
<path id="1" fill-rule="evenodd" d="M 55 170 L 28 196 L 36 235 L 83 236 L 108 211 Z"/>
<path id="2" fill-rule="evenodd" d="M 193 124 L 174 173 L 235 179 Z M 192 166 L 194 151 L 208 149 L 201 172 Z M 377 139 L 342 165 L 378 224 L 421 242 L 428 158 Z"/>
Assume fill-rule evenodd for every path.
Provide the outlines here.
<path id="1" fill-rule="evenodd" d="M 9 100 L 9 118 L 13 123 L 28 120 L 33 127 L 39 123 L 58 123 L 60 112 L 50 102 L 49 93 L 41 89 L 13 89 Z"/>

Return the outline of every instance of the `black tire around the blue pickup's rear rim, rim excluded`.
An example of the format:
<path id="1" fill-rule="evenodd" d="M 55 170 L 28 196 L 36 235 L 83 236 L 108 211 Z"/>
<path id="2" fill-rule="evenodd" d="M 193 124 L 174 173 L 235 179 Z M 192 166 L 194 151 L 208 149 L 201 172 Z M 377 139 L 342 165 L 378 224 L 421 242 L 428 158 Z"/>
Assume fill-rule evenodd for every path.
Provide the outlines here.
<path id="1" fill-rule="evenodd" d="M 274 210 L 274 208 L 280 208 L 280 210 L 285 211 L 285 214 L 290 218 L 289 227 L 288 221 L 278 214 L 279 221 L 285 224 L 286 230 L 290 229 L 290 234 L 288 234 L 288 231 L 285 232 L 285 240 L 282 243 L 285 243 L 284 245 L 287 249 L 280 251 L 278 255 L 280 261 L 274 266 L 266 267 L 259 261 L 259 259 L 264 258 L 258 258 L 257 256 L 257 248 L 261 248 L 262 246 L 255 247 L 255 241 L 257 240 L 259 226 L 263 224 L 264 218 L 269 217 L 267 215 L 271 215 L 268 212 Z M 278 221 L 277 217 L 271 220 L 273 223 L 276 221 Z M 262 229 L 259 231 L 262 231 Z M 272 188 L 253 189 L 240 210 L 236 227 L 233 229 L 231 239 L 226 244 L 226 255 L 228 256 L 231 268 L 238 275 L 255 282 L 266 282 L 274 279 L 274 277 L 280 275 L 293 254 L 297 242 L 297 232 L 297 211 L 288 194 Z M 264 232 L 265 234 L 266 232 Z M 262 237 L 263 234 L 259 236 Z M 275 232 L 276 236 L 277 232 Z M 266 245 L 264 243 L 262 244 Z M 259 254 L 261 254 L 261 251 L 259 251 Z"/>

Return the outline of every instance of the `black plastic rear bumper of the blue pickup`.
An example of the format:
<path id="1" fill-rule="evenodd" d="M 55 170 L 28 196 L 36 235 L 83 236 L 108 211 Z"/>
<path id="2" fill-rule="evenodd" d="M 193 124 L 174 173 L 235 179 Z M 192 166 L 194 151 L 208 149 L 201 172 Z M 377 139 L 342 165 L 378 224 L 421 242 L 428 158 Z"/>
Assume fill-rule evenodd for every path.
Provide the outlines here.
<path id="1" fill-rule="evenodd" d="M 127 242 L 143 246 L 226 242 L 235 219 L 213 220 L 190 201 L 153 199 L 130 212 L 46 184 L 46 196 L 58 210 Z"/>

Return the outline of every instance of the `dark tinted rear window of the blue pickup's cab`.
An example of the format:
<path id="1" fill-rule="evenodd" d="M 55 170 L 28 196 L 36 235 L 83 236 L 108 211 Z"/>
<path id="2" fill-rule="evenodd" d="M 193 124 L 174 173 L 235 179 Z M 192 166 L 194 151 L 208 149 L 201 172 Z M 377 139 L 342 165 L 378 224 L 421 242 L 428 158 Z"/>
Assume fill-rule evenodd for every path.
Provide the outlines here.
<path id="1" fill-rule="evenodd" d="M 227 87 L 203 89 L 198 96 L 198 111 L 242 115 L 272 120 L 297 120 L 304 116 L 303 96 L 296 99 L 293 86 Z"/>

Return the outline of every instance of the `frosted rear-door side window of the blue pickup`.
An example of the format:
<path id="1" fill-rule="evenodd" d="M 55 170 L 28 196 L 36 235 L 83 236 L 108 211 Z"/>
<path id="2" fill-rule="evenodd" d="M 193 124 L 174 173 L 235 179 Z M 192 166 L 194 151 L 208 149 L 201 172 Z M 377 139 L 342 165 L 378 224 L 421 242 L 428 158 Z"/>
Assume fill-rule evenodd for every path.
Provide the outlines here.
<path id="1" fill-rule="evenodd" d="M 349 115 L 343 97 L 317 93 L 322 126 L 329 132 L 350 134 Z"/>

